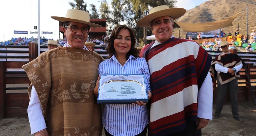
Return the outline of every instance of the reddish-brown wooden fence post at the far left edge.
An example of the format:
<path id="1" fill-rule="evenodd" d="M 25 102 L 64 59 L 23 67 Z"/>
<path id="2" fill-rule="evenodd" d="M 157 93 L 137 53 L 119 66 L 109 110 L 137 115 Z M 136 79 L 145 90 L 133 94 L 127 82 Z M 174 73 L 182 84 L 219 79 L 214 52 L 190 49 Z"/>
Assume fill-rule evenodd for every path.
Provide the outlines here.
<path id="1" fill-rule="evenodd" d="M 6 71 L 6 62 L 0 61 L 0 118 L 5 117 L 5 94 L 6 94 L 5 71 Z"/>

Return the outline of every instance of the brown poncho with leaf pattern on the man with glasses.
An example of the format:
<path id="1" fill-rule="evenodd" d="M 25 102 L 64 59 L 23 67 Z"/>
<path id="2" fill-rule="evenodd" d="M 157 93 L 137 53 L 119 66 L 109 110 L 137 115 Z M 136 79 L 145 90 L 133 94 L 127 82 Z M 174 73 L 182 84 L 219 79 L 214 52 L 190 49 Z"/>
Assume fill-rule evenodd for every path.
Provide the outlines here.
<path id="1" fill-rule="evenodd" d="M 101 136 L 101 105 L 93 89 L 103 60 L 93 51 L 58 47 L 22 66 L 37 91 L 49 135 Z"/>

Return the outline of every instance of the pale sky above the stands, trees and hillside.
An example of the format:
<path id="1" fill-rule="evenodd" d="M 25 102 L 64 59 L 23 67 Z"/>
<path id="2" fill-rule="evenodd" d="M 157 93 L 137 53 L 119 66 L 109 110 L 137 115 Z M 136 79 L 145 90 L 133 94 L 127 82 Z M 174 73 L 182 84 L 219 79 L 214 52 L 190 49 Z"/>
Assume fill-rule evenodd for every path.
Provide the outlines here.
<path id="1" fill-rule="evenodd" d="M 112 0 L 107 0 L 110 5 Z M 176 7 L 185 8 L 186 10 L 208 0 L 177 0 Z M 50 18 L 50 16 L 65 17 L 67 10 L 72 7 L 69 2 L 75 3 L 74 0 L 40 0 L 40 36 L 53 38 L 54 40 L 62 37 L 59 35 L 59 22 Z M 90 4 L 96 5 L 99 10 L 100 0 L 84 0 L 87 8 Z M 38 0 L 1 0 L 0 1 L 0 42 L 7 41 L 11 38 L 18 37 L 37 37 L 37 34 L 30 34 L 30 31 L 38 31 Z M 14 34 L 14 31 L 28 31 L 28 34 Z M 53 32 L 53 34 L 42 34 L 42 31 Z"/>

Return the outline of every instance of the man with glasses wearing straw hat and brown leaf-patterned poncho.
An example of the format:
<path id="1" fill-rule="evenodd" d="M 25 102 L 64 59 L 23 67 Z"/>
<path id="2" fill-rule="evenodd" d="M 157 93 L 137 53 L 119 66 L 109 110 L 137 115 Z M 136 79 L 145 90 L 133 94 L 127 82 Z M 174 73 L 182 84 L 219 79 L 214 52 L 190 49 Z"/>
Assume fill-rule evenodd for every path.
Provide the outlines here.
<path id="1" fill-rule="evenodd" d="M 101 136 L 101 105 L 97 104 L 94 87 L 98 65 L 104 59 L 84 43 L 90 27 L 102 26 L 90 23 L 89 13 L 77 9 L 68 9 L 66 17 L 51 18 L 64 22 L 67 43 L 22 66 L 31 81 L 31 134 Z"/>

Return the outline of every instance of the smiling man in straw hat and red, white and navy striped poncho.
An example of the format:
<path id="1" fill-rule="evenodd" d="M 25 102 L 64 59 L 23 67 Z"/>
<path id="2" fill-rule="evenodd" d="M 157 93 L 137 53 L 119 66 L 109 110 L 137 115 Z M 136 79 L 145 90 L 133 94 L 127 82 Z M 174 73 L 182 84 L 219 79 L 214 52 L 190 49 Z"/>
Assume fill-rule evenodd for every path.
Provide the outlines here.
<path id="1" fill-rule="evenodd" d="M 140 53 L 151 74 L 148 131 L 152 136 L 200 136 L 212 119 L 212 58 L 196 42 L 173 36 L 173 20 L 185 12 L 162 5 L 137 22 L 150 27 L 156 38 Z"/>

